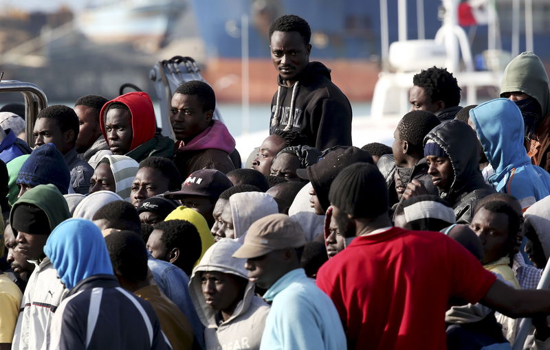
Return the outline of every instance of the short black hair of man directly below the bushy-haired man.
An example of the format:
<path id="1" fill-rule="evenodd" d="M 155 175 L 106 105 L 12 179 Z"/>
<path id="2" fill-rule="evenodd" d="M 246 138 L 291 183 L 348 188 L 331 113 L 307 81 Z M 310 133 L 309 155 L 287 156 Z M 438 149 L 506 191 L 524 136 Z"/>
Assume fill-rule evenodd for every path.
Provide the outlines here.
<path id="1" fill-rule="evenodd" d="M 403 141 L 407 141 L 417 154 L 424 154 L 423 141 L 433 128 L 441 124 L 437 117 L 427 110 L 412 110 L 404 115 L 397 132 Z"/>

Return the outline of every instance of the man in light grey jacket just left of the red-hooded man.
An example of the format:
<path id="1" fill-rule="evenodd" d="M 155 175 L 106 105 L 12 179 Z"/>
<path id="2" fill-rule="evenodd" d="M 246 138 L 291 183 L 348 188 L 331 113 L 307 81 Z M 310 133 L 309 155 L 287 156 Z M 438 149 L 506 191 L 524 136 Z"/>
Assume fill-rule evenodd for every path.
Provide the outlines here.
<path id="1" fill-rule="evenodd" d="M 101 132 L 100 113 L 104 104 L 109 102 L 99 95 L 85 95 L 74 103 L 74 112 L 78 116 L 80 131 L 76 138 L 78 158 L 87 161 L 96 169 L 96 165 L 106 154 L 113 154 Z"/>

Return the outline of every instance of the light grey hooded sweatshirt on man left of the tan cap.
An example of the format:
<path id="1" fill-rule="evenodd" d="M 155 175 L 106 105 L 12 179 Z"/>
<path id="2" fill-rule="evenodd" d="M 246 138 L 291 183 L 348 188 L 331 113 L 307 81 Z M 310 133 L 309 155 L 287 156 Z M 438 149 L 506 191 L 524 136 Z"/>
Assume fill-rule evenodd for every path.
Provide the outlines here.
<path id="1" fill-rule="evenodd" d="M 239 242 L 223 238 L 206 250 L 199 264 L 193 269 L 189 292 L 191 301 L 206 329 L 206 350 L 260 349 L 265 318 L 270 311 L 263 299 L 254 295 L 254 283 L 248 282 L 242 301 L 236 306 L 231 318 L 216 323 L 216 311 L 206 304 L 201 288 L 201 272 L 218 271 L 248 279 L 245 259 L 232 257 L 241 247 Z"/>

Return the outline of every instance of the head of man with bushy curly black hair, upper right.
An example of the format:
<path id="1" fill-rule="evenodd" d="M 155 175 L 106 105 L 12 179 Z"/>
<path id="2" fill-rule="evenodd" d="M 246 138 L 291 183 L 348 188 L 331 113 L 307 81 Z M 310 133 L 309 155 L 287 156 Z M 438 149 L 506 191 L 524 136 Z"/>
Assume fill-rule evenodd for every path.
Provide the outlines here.
<path id="1" fill-rule="evenodd" d="M 408 94 L 410 110 L 427 110 L 443 122 L 454 119 L 462 109 L 459 106 L 461 89 L 446 68 L 422 69 L 412 77 L 412 84 Z"/>

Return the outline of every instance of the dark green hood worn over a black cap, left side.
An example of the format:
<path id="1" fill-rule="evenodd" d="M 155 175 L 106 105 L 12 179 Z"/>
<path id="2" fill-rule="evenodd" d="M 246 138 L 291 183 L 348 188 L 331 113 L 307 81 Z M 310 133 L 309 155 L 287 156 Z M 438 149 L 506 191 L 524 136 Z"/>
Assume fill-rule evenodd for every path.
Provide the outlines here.
<path id="1" fill-rule="evenodd" d="M 21 203 L 35 205 L 42 209 L 50 221 L 50 230 L 54 230 L 58 224 L 71 218 L 67 201 L 55 185 L 38 185 L 26 191 L 12 207 L 10 222 L 13 222 L 15 209 Z"/>

